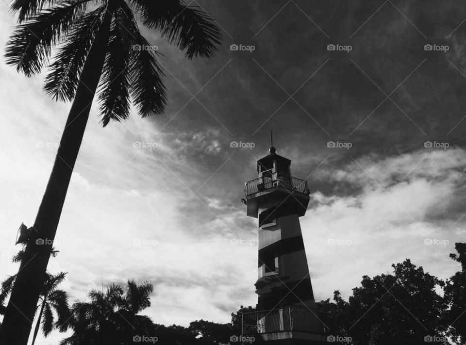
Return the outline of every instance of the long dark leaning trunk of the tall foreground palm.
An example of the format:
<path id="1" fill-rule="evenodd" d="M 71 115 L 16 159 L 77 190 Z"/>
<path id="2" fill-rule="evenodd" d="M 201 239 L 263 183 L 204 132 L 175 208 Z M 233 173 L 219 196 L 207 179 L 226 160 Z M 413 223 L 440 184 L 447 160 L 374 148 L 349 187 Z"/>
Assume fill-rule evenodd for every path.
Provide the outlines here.
<path id="1" fill-rule="evenodd" d="M 111 20 L 112 15 L 106 10 L 102 25 L 87 54 L 49 183 L 34 222 L 35 231 L 32 231 L 27 243 L 3 319 L 0 331 L 2 345 L 27 345 L 52 247 L 51 244 L 40 244 L 39 239 L 55 239 L 71 173 L 105 62 Z"/>

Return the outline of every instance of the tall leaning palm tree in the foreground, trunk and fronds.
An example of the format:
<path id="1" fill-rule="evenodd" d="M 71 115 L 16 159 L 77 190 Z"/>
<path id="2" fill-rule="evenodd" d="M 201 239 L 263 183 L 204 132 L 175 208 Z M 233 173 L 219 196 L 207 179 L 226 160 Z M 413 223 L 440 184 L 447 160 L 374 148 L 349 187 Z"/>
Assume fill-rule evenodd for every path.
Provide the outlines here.
<path id="1" fill-rule="evenodd" d="M 211 16 L 182 0 L 13 0 L 12 10 L 19 25 L 7 43 L 7 63 L 28 77 L 49 66 L 46 93 L 73 100 L 0 331 L 0 344 L 26 345 L 50 258 L 37 239 L 55 238 L 98 86 L 103 126 L 129 116 L 130 98 L 142 117 L 161 114 L 166 105 L 160 54 L 150 49 L 135 15 L 188 59 L 212 57 L 221 35 Z"/>

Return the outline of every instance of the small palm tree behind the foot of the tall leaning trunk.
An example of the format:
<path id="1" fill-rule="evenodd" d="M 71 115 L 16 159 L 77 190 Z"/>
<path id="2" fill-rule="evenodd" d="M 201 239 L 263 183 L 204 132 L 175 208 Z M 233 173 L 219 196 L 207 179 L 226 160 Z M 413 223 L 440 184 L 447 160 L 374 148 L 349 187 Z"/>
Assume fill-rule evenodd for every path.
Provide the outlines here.
<path id="1" fill-rule="evenodd" d="M 40 324 L 42 321 L 42 332 L 45 336 L 48 336 L 53 329 L 59 329 L 60 331 L 66 331 L 66 323 L 69 318 L 69 308 L 68 308 L 68 294 L 64 290 L 58 289 L 58 285 L 65 280 L 66 273 L 60 272 L 57 275 L 51 275 L 46 273 L 46 279 L 43 284 L 43 289 L 39 296 L 39 304 L 36 307 L 36 310 L 40 308 L 37 322 L 35 324 L 33 342 L 37 337 L 39 332 Z M 6 279 L 1 283 L 1 294 L 0 294 L 0 313 L 2 302 L 6 296 L 11 292 L 12 288 L 15 286 L 16 275 Z M 4 308 L 4 307 L 3 307 Z M 55 316 L 57 315 L 57 320 L 55 321 Z"/>

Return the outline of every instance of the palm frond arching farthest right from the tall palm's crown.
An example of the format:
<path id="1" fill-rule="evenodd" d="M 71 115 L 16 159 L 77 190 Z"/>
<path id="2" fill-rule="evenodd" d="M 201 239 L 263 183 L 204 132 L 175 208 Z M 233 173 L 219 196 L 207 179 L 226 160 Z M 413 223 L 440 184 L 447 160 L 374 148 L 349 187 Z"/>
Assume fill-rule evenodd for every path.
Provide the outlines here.
<path id="1" fill-rule="evenodd" d="M 221 43 L 215 20 L 199 6 L 186 6 L 183 1 L 130 0 L 141 13 L 142 23 L 162 32 L 170 43 L 186 50 L 188 59 L 214 56 Z"/>

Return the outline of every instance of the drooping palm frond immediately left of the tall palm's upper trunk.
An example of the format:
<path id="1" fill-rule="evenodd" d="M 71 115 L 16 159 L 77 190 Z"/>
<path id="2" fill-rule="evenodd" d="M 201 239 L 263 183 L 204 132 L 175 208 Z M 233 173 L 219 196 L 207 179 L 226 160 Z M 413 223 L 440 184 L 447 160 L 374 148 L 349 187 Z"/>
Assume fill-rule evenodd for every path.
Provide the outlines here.
<path id="1" fill-rule="evenodd" d="M 68 43 L 49 67 L 44 90 L 52 98 L 72 100 L 76 94 L 87 53 L 99 31 L 105 7 L 101 6 L 76 20 L 67 35 Z"/>

